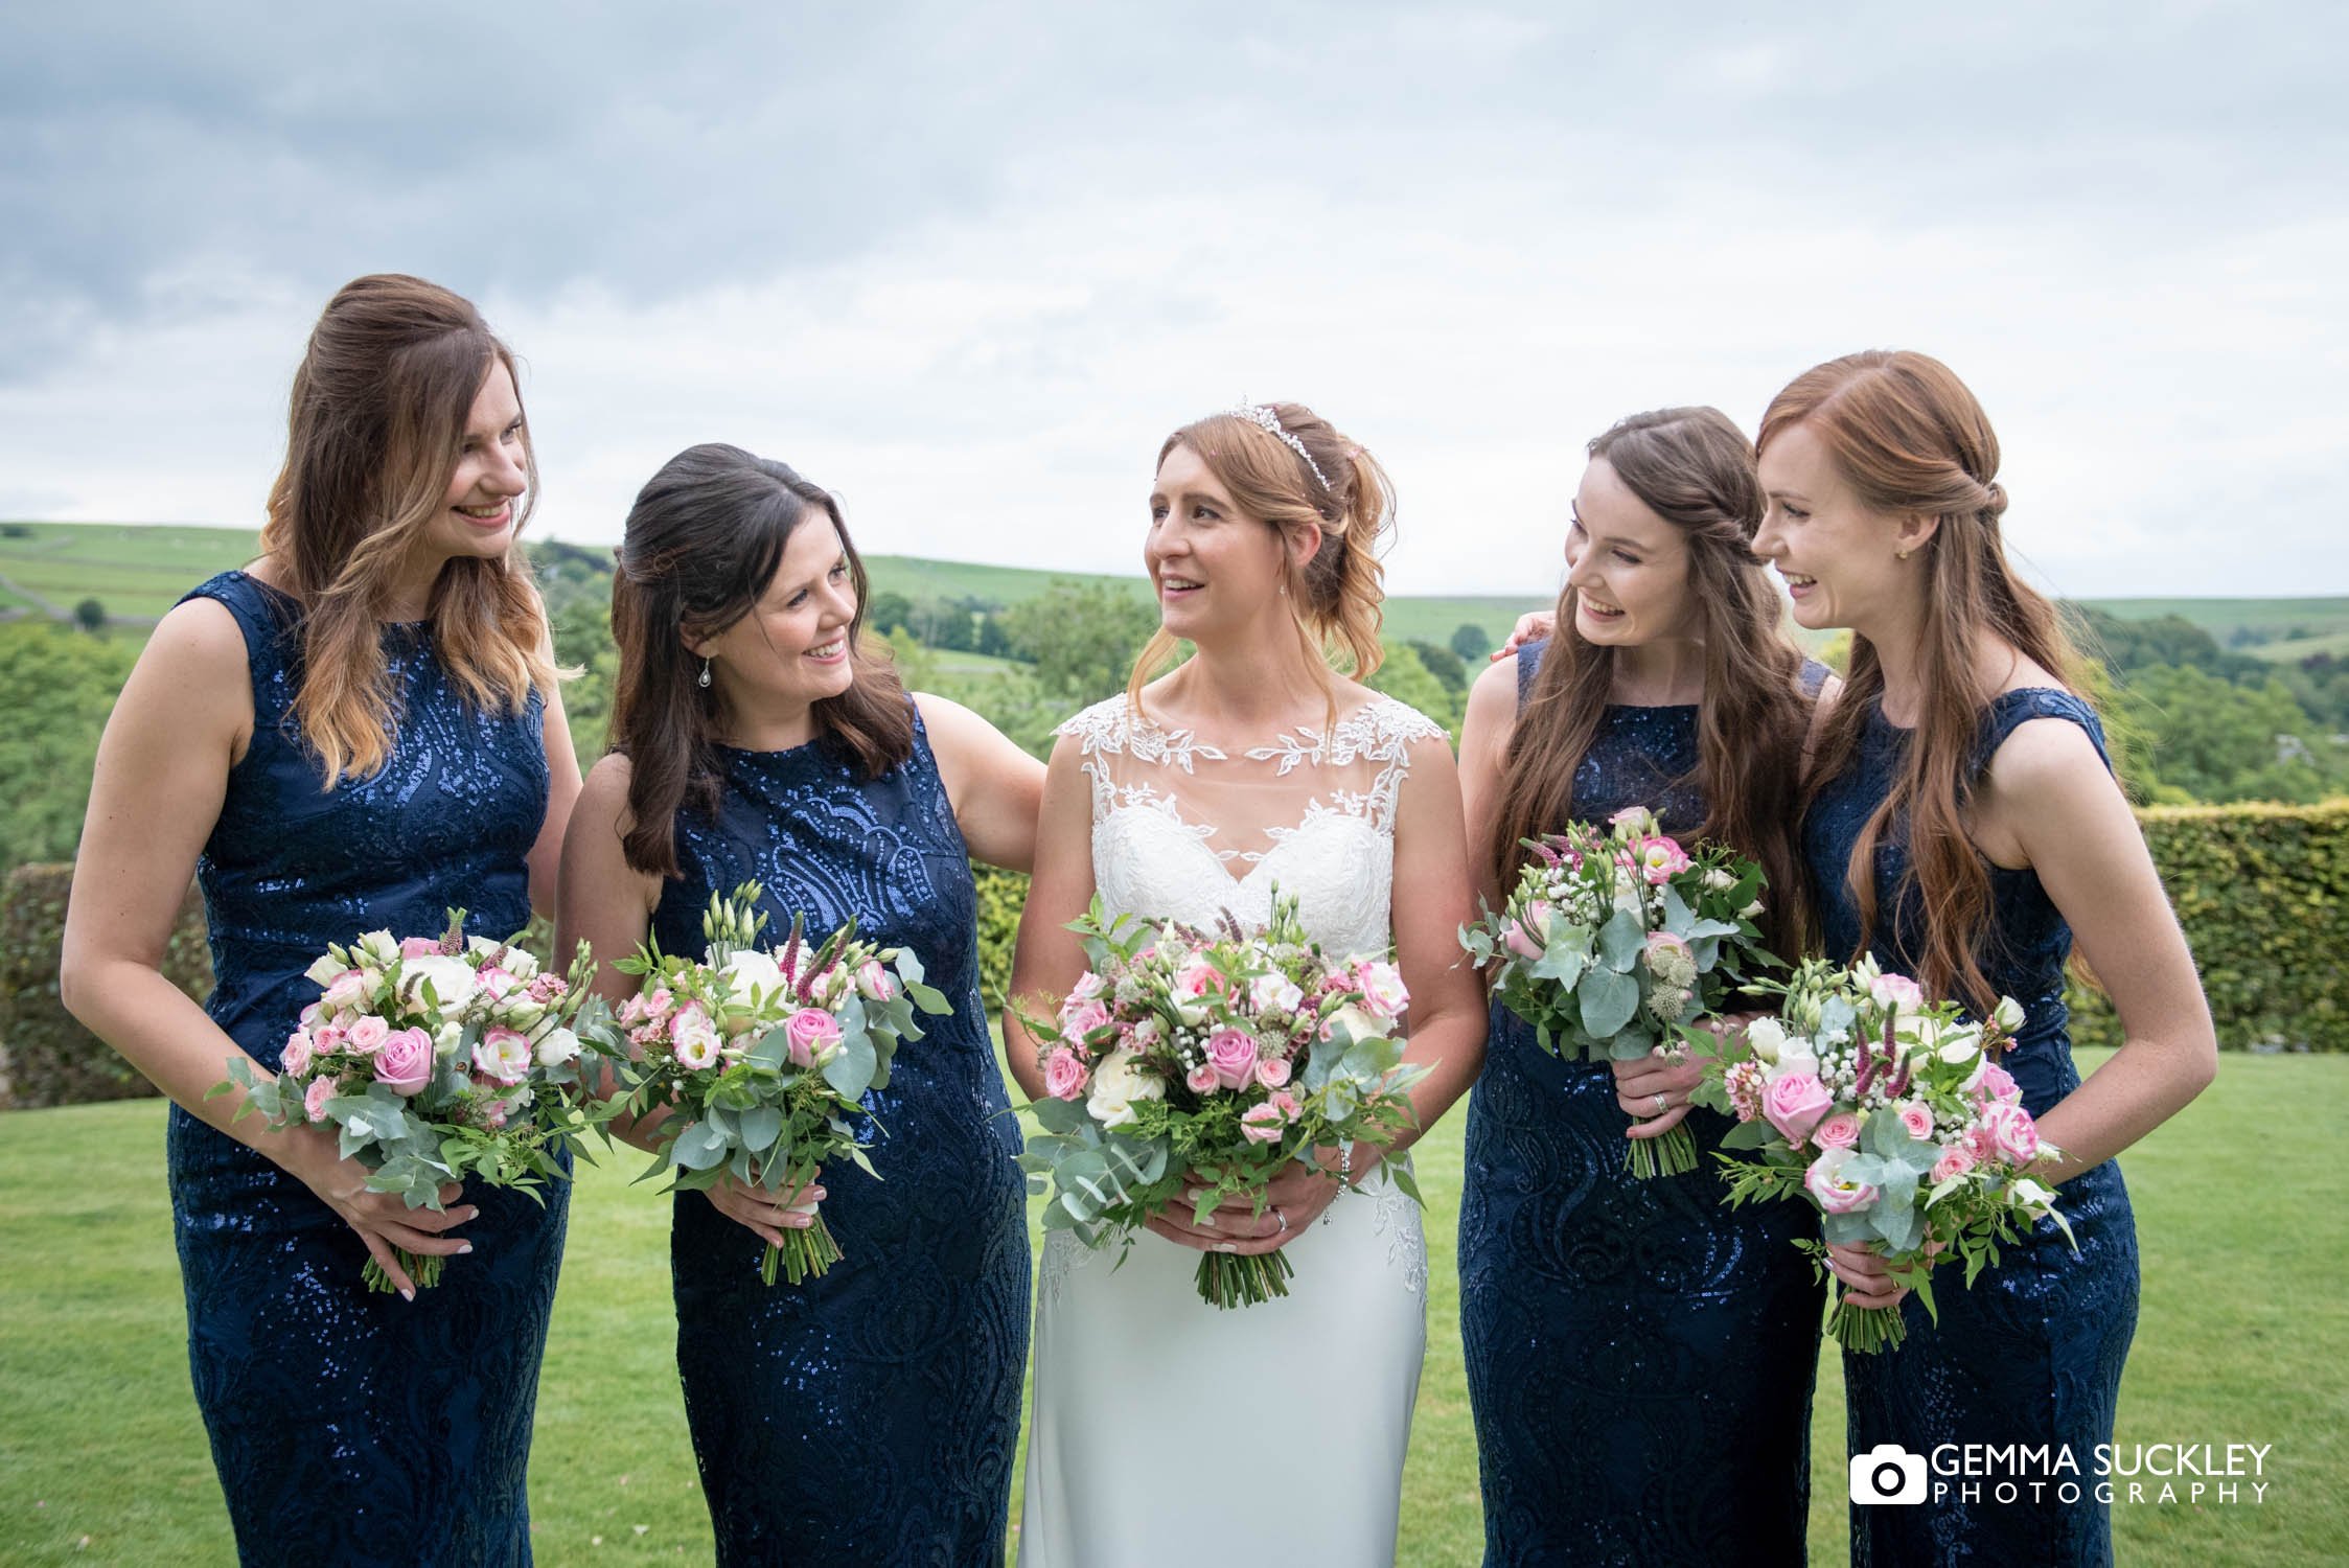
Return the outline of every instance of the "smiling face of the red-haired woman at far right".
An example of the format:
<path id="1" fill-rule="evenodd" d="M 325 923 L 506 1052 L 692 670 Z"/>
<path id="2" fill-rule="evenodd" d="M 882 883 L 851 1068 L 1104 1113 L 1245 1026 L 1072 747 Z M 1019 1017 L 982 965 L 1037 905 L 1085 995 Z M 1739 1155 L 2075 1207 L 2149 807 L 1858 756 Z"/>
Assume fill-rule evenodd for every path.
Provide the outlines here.
<path id="1" fill-rule="evenodd" d="M 1919 563 L 1898 552 L 1924 542 L 1910 538 L 1919 523 L 1867 507 L 1809 425 L 1764 448 L 1762 493 L 1769 512 L 1755 554 L 1785 577 L 1799 624 L 1865 627 L 1910 592 Z"/>

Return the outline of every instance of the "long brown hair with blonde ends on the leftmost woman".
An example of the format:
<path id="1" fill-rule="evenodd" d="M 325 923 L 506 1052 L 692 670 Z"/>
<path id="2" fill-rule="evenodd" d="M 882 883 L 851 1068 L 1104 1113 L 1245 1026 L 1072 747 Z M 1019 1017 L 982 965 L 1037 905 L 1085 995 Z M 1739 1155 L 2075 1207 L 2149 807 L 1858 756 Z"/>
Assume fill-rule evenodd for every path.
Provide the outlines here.
<path id="1" fill-rule="evenodd" d="M 261 554 L 301 606 L 294 718 L 327 789 L 392 753 L 399 692 L 381 617 L 416 538 L 449 500 L 465 423 L 491 366 L 514 354 L 463 296 L 383 272 L 343 284 L 294 371 L 287 462 L 270 486 Z M 521 383 L 514 383 L 519 406 Z M 545 608 L 521 554 L 538 460 L 521 427 L 529 491 L 503 556 L 458 556 L 432 582 L 432 650 L 474 707 L 519 714 L 554 688 Z"/>

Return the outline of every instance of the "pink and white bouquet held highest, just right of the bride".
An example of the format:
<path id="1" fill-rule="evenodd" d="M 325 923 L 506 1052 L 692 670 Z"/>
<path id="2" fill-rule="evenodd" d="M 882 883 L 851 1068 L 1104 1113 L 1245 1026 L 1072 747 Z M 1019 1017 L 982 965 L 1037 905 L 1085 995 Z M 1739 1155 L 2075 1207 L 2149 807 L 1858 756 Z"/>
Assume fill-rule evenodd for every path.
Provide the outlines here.
<path id="1" fill-rule="evenodd" d="M 1698 1019 L 1717 1012 L 1731 976 L 1778 962 L 1752 922 L 1762 869 L 1719 845 L 1689 854 L 1644 805 L 1525 847 L 1506 906 L 1461 927 L 1461 946 L 1494 967 L 1494 995 L 1553 1056 L 1710 1052 Z M 1675 1127 L 1633 1138 L 1623 1157 L 1635 1176 L 1677 1176 L 1696 1169 L 1696 1143 Z"/>

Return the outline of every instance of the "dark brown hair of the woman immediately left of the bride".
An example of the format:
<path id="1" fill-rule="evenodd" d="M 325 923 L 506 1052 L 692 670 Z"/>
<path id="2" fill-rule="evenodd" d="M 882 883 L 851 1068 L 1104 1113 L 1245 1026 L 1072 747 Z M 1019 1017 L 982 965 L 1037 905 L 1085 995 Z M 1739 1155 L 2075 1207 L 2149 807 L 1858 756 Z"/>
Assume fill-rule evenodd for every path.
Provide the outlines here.
<path id="1" fill-rule="evenodd" d="M 848 690 L 815 704 L 815 732 L 843 746 L 867 777 L 914 756 L 914 714 L 897 669 L 864 643 L 871 601 L 841 505 L 787 462 L 740 446 L 688 446 L 637 493 L 611 577 L 611 636 L 620 676 L 611 697 L 611 749 L 630 763 L 622 840 L 644 876 L 679 876 L 677 812 L 719 805 L 719 685 L 700 683 L 686 638 L 749 615 L 782 563 L 792 533 L 829 521 L 848 554 L 857 613 L 848 622 Z"/>

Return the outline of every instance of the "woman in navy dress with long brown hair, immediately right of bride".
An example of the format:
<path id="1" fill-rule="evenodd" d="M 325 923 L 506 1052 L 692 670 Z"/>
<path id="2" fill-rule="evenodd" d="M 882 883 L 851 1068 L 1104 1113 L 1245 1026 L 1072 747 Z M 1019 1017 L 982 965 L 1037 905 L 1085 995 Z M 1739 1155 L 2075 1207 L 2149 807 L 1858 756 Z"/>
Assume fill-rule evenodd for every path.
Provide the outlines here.
<path id="1" fill-rule="evenodd" d="M 1555 634 L 1487 669 L 1461 730 L 1485 897 L 1522 838 L 1649 805 L 1769 873 L 1795 951 L 1795 779 L 1828 671 L 1778 634 L 1750 552 L 1752 446 L 1712 408 L 1590 444 Z M 1689 1117 L 1694 1066 L 1569 1063 L 1494 1005 L 1468 1106 L 1461 1336 L 1485 1561 L 1799 1563 L 1823 1286 L 1792 1204 L 1729 1209 L 1705 1174 L 1635 1178 L 1630 1138 Z M 1640 1117 L 1647 1117 L 1644 1122 Z"/>

